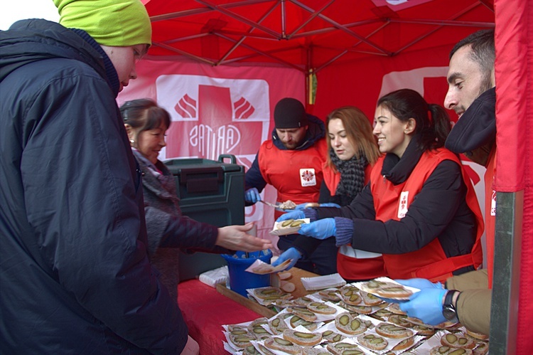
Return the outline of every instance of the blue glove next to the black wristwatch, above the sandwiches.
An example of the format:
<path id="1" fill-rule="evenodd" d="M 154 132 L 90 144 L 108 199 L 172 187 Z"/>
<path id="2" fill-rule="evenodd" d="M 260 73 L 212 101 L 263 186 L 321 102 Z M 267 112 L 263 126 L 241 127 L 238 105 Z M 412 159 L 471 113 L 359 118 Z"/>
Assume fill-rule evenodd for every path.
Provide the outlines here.
<path id="1" fill-rule="evenodd" d="M 442 315 L 443 297 L 448 290 L 437 288 L 424 288 L 409 297 L 408 302 L 399 304 L 400 309 L 409 317 L 415 317 L 430 325 L 446 322 Z"/>

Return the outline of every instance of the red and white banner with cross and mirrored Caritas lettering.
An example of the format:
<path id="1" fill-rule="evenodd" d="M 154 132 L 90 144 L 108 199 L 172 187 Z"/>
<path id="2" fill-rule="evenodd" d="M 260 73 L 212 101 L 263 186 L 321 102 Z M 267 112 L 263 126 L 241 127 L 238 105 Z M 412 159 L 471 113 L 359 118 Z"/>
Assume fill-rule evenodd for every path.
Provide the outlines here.
<path id="1" fill-rule="evenodd" d="M 220 154 L 232 154 L 247 171 L 261 143 L 271 138 L 276 102 L 283 97 L 305 102 L 305 76 L 292 68 L 211 67 L 145 58 L 137 64 L 137 75 L 117 102 L 147 97 L 170 113 L 172 124 L 160 160 L 217 160 Z M 276 191 L 267 186 L 262 198 L 275 203 Z M 258 235 L 277 238 L 268 234 L 274 226 L 272 208 L 257 203 L 245 213 L 246 221 L 256 221 Z"/>

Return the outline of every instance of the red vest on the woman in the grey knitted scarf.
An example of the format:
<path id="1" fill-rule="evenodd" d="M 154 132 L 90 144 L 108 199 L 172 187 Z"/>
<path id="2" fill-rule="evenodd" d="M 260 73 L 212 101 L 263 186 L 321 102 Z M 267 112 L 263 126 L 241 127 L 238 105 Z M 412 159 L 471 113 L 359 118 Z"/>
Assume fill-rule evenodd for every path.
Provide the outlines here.
<path id="1" fill-rule="evenodd" d="M 368 164 L 365 169 L 365 184 L 370 180 L 371 171 L 372 166 Z M 340 173 L 326 166 L 323 174 L 325 186 L 328 186 L 332 196 L 335 195 L 335 191 L 337 191 L 337 186 L 340 182 Z M 346 280 L 367 280 L 387 275 L 381 256 L 377 258 L 357 259 L 344 255 L 340 249 L 337 254 L 337 271 Z"/>

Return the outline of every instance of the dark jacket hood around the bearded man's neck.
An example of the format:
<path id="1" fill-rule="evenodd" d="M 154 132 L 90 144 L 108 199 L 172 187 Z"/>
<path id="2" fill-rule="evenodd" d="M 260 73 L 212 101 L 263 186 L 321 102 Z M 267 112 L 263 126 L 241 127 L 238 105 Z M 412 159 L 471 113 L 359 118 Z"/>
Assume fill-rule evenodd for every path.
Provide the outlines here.
<path id="1" fill-rule="evenodd" d="M 496 88 L 491 88 L 472 102 L 451 129 L 446 148 L 471 157 L 473 151 L 496 139 Z M 490 149 L 489 149 L 490 150 Z"/>

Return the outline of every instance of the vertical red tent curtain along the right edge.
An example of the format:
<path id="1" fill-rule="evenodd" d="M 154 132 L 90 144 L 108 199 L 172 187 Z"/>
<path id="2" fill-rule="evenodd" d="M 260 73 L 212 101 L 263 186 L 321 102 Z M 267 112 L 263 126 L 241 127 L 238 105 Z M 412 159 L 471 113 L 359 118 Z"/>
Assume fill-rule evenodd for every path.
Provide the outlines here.
<path id="1" fill-rule="evenodd" d="M 497 166 L 495 191 L 524 191 L 517 354 L 532 354 L 533 337 L 533 5 L 495 1 Z"/>

